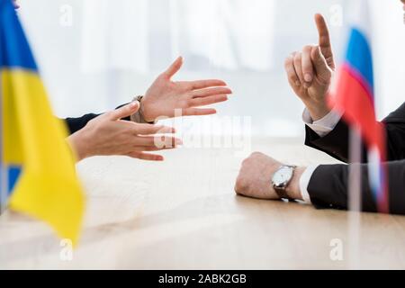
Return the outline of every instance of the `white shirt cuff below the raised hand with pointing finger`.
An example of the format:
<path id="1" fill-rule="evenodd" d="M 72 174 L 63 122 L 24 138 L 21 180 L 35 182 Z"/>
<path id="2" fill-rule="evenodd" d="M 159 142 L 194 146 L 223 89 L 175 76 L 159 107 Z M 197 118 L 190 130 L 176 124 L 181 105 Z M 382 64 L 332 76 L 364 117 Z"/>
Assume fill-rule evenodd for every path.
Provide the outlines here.
<path id="1" fill-rule="evenodd" d="M 310 127 L 311 130 L 317 133 L 320 137 L 325 137 L 332 130 L 334 130 L 341 118 L 342 114 L 334 110 L 318 121 L 312 120 L 308 109 L 305 108 L 304 112 L 302 113 L 302 121 L 304 121 L 305 124 L 307 124 L 308 127 Z"/>

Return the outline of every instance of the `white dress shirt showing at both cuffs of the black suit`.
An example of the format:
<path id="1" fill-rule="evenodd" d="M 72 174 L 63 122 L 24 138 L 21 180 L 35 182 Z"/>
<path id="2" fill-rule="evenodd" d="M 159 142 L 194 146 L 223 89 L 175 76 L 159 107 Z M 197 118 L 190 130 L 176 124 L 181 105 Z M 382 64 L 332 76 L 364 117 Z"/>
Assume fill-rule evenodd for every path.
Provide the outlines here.
<path id="1" fill-rule="evenodd" d="M 323 117 L 318 121 L 313 121 L 307 109 L 304 110 L 302 113 L 302 121 L 311 128 L 315 133 L 317 133 L 320 137 L 325 137 L 328 135 L 332 130 L 335 129 L 336 125 L 342 118 L 342 114 L 336 111 L 329 112 L 328 115 Z M 300 190 L 302 194 L 302 199 L 304 202 L 311 204 L 311 197 L 310 193 L 308 193 L 308 185 L 311 181 L 311 176 L 316 170 L 318 165 L 308 166 L 307 169 L 301 176 L 300 179 Z"/>

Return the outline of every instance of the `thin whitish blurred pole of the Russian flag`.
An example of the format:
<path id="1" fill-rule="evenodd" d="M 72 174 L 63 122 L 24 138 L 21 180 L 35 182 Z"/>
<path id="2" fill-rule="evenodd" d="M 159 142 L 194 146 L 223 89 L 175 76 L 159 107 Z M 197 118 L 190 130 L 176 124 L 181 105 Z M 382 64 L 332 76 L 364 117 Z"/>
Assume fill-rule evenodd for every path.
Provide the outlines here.
<path id="1" fill-rule="evenodd" d="M 362 211 L 362 137 L 356 127 L 349 135 L 349 180 L 348 180 L 348 265 L 357 269 L 360 260 L 360 230 Z"/>

